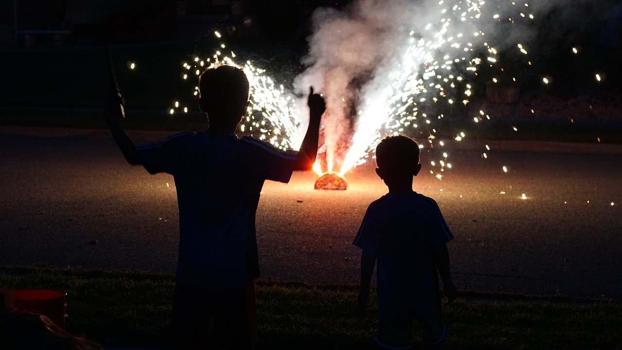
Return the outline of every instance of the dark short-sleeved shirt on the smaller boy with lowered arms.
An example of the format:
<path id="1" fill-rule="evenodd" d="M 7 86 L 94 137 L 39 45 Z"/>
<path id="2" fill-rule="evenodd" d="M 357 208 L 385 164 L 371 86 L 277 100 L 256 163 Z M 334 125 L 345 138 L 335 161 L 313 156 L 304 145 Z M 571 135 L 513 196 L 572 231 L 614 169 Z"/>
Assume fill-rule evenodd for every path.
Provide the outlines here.
<path id="1" fill-rule="evenodd" d="M 439 288 L 432 256 L 452 239 L 434 199 L 388 193 L 369 204 L 353 244 L 377 255 L 381 318 L 417 318 L 432 311 Z"/>

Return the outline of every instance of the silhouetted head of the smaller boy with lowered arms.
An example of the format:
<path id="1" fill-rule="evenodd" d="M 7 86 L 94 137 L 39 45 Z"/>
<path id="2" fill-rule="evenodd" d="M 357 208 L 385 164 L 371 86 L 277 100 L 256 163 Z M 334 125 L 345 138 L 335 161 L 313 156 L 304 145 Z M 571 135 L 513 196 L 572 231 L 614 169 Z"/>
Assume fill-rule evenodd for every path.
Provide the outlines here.
<path id="1" fill-rule="evenodd" d="M 404 184 L 421 170 L 419 145 L 406 135 L 386 136 L 376 146 L 376 174 L 387 186 Z"/>

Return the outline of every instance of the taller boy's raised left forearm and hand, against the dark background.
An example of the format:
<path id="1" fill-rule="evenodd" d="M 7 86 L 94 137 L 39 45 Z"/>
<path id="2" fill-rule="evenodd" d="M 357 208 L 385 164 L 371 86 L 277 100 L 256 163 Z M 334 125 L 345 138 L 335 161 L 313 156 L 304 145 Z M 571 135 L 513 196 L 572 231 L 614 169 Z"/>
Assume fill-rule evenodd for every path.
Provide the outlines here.
<path id="1" fill-rule="evenodd" d="M 123 110 L 123 97 L 119 92 L 112 72 L 110 72 L 110 86 L 108 92 L 106 92 L 104 116 L 106 117 L 108 127 L 113 134 L 114 142 L 116 142 L 117 146 L 121 150 L 121 153 L 123 153 L 126 161 L 132 165 L 141 164 L 136 155 L 136 144 L 134 144 L 134 141 L 129 138 L 128 134 L 123 129 L 123 125 L 121 125 L 121 118 L 125 117 Z"/>

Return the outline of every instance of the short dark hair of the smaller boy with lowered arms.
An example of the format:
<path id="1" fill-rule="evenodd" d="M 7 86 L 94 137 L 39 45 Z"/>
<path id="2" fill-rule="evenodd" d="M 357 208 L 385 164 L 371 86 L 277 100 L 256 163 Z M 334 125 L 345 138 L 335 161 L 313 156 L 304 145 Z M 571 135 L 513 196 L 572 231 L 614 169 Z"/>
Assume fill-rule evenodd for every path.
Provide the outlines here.
<path id="1" fill-rule="evenodd" d="M 406 164 L 419 164 L 419 144 L 406 135 L 389 135 L 376 146 L 376 165 L 381 169 L 399 171 Z"/>

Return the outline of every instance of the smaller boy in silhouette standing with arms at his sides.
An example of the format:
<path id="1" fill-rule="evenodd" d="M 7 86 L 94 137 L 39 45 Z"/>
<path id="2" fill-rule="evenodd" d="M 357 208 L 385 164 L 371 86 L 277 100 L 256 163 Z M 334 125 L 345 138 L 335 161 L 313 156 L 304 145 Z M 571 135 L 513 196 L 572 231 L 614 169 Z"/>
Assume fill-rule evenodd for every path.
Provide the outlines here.
<path id="1" fill-rule="evenodd" d="M 378 260 L 378 334 L 380 349 L 412 349 L 413 320 L 422 328 L 424 349 L 439 349 L 439 279 L 448 302 L 455 300 L 449 253 L 452 238 L 436 202 L 412 190 L 421 170 L 419 145 L 404 135 L 384 138 L 376 147 L 376 174 L 389 193 L 369 204 L 353 244 L 361 253 L 358 305 L 368 306 L 369 283 Z"/>

